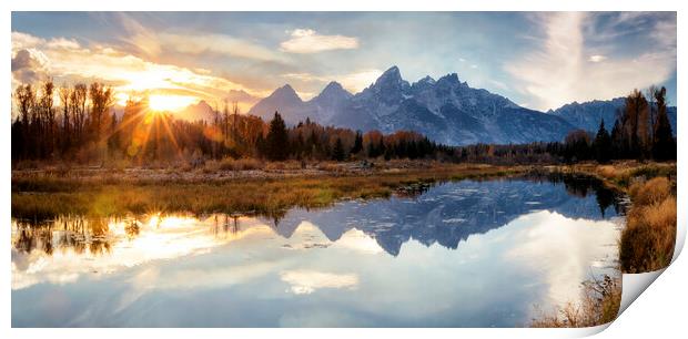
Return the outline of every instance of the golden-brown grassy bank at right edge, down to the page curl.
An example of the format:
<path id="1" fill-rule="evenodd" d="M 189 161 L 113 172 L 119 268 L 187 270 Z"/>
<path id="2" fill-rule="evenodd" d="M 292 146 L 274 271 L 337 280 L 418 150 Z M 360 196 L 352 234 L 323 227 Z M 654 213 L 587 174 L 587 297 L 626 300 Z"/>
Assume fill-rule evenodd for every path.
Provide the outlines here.
<path id="1" fill-rule="evenodd" d="M 580 164 L 549 167 L 549 171 L 590 175 L 628 194 L 631 205 L 618 245 L 623 273 L 647 273 L 669 266 L 676 244 L 676 164 Z M 620 281 L 608 277 L 604 281 L 586 281 L 579 302 L 543 312 L 530 326 L 603 325 L 616 319 L 620 301 Z"/>

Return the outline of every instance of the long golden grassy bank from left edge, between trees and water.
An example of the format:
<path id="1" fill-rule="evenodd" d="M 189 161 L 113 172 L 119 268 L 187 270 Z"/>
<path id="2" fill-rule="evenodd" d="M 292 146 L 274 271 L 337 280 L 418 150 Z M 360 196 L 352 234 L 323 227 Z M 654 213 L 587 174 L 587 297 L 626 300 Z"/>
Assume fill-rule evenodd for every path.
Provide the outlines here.
<path id="1" fill-rule="evenodd" d="M 12 216 L 45 219 L 58 215 L 113 216 L 149 212 L 280 215 L 290 207 L 323 207 L 340 199 L 388 197 L 415 183 L 507 176 L 529 167 L 435 165 L 432 168 L 332 171 L 289 177 L 194 177 L 119 179 L 103 175 L 16 175 Z"/>

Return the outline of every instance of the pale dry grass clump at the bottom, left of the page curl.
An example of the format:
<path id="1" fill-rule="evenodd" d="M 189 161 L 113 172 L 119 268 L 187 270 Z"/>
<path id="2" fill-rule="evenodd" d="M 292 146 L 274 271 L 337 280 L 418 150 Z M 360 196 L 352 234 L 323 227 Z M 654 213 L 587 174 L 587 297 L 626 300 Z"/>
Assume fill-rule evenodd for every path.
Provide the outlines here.
<path id="1" fill-rule="evenodd" d="M 583 285 L 579 302 L 568 302 L 550 314 L 540 312 L 530 327 L 593 327 L 616 319 L 621 305 L 620 281 L 605 276 L 601 280 L 591 279 Z"/>

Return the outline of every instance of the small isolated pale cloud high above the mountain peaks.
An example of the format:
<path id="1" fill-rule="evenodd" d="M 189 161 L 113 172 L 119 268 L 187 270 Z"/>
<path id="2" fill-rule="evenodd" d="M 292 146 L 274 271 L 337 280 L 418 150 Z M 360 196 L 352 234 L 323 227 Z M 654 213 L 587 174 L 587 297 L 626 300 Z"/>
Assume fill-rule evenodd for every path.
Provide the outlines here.
<path id="1" fill-rule="evenodd" d="M 280 47 L 289 53 L 318 53 L 332 50 L 352 50 L 358 48 L 358 39 L 344 35 L 321 35 L 311 29 L 296 29 L 291 39 Z"/>

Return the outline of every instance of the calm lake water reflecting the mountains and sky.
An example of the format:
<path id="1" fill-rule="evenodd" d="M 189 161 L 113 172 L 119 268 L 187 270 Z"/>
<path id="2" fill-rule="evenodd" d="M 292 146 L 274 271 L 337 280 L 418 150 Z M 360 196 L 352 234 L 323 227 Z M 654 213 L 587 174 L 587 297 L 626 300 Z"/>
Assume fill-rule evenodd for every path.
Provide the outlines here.
<path id="1" fill-rule="evenodd" d="M 12 220 L 12 326 L 524 326 L 619 275 L 617 201 L 464 181 L 280 219 Z"/>

